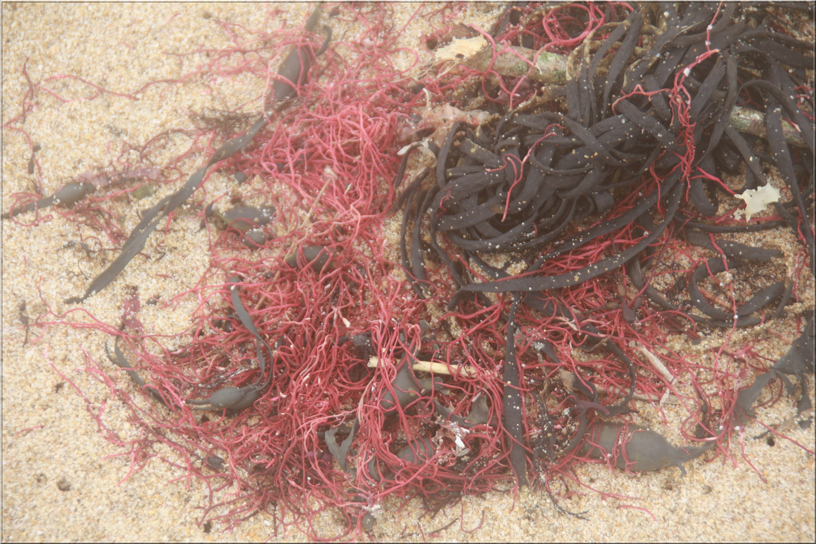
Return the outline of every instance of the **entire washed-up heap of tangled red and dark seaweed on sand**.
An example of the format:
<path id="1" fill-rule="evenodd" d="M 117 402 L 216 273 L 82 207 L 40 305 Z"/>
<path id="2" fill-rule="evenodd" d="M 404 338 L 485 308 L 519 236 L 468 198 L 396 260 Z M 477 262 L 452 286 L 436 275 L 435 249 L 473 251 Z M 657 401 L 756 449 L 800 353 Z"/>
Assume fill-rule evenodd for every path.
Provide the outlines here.
<path id="1" fill-rule="evenodd" d="M 315 10 L 269 74 L 264 114 L 148 210 L 67 301 L 114 281 L 211 168 L 277 198 L 203 212 L 202 228 L 224 234 L 191 291 L 203 302 L 190 345 L 156 356 L 155 338 L 116 331 L 110 360 L 157 400 L 144 409 L 118 390 L 143 432 L 135 458 L 166 444 L 211 490 L 239 484 L 237 498 L 208 508 L 227 506 L 215 519 L 267 511 L 317 536 L 311 520 L 330 506 L 348 532 L 370 529 L 388 496 L 436 508 L 514 484 L 552 493 L 587 458 L 685 472 L 725 451 L 776 378 L 791 393 L 796 376 L 797 414 L 810 408 L 812 316 L 741 391 L 730 363 L 716 374 L 668 346 L 765 324 L 798 296 L 798 272 L 778 272 L 781 252 L 734 233 L 787 225 L 813 273 L 812 44 L 752 4 L 532 5 L 491 33 L 452 29 L 487 44 L 481 60 L 417 82 L 390 63 L 389 16 Z M 343 42 L 352 58 L 335 53 L 330 26 L 313 33 L 332 20 L 366 22 Z M 536 64 L 545 52 L 555 76 Z M 513 59 L 526 70 L 508 68 Z M 492 115 L 424 125 L 428 106 L 450 100 Z M 414 138 L 401 164 L 399 131 Z M 772 166 L 789 195 L 774 217 L 721 213 L 721 199 L 769 184 Z M 9 215 L 93 189 L 69 184 Z M 392 263 L 383 231 L 399 207 Z M 273 236 L 273 223 L 286 233 Z M 753 276 L 751 294 L 725 274 Z M 679 448 L 627 423 L 633 399 L 682 404 L 694 427 L 684 435 L 702 444 Z"/>

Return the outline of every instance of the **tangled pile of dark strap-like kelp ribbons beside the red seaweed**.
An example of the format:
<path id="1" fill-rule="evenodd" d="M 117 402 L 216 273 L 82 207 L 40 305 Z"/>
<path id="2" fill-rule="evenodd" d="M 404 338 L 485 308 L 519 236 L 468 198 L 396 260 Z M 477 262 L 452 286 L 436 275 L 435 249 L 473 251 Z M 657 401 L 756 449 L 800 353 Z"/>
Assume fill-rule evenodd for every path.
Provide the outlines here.
<path id="1" fill-rule="evenodd" d="M 450 310 L 460 304 L 490 307 L 494 302 L 485 293 L 511 295 L 512 306 L 504 317 L 504 417 L 520 482 L 526 480 L 527 460 L 519 391 L 530 392 L 519 378 L 523 370 L 517 367 L 513 339 L 520 304 L 539 312 L 530 319 L 574 319 L 574 309 L 559 302 L 557 290 L 625 267 L 632 284 L 656 307 L 698 325 L 759 325 L 778 316 L 790 301 L 790 280 L 735 301 L 731 310 L 712 306 L 698 283 L 781 256 L 778 250 L 721 238 L 727 232 L 756 232 L 781 223 L 807 248 L 813 272 L 814 238 L 807 213 L 813 196 L 813 103 L 811 94 L 796 91 L 809 88 L 805 69 L 812 68 L 813 58 L 805 53 L 813 44 L 775 32 L 769 19 L 752 20 L 755 13 L 750 5 L 734 3 L 675 7 L 665 2 L 599 25 L 570 55 L 569 81 L 557 93 L 565 97 L 564 111 L 550 111 L 550 104 L 542 108 L 531 96 L 497 115 L 490 126 L 455 123 L 437 153 L 435 183 L 428 187 L 418 177 L 405 189 L 404 210 L 414 228 L 403 222 L 401 236 L 410 241 L 404 245 L 410 244 L 410 253 L 403 249 L 403 262 L 417 293 L 428 285 L 420 251 L 427 245 L 428 258 L 444 263 L 459 288 Z M 604 32 L 605 39 L 592 41 Z M 495 46 L 494 58 L 503 49 Z M 744 100 L 756 104 L 757 115 L 764 116 L 760 136 L 767 140 L 767 153 L 754 149 L 760 137 L 743 135 L 732 124 L 734 107 Z M 788 146 L 783 116 L 795 123 L 804 147 L 792 151 Z M 778 169 L 792 195 L 774 204 L 783 219 L 723 223 L 717 193 L 734 195 L 765 186 L 769 166 Z M 741 169 L 743 188 L 735 191 L 721 181 L 722 175 Z M 574 228 L 588 223 L 588 228 Z M 437 242 L 437 233 L 445 234 L 446 247 Z M 641 263 L 656 263 L 656 248 L 676 236 L 719 254 L 694 268 L 688 299 L 681 303 L 659 294 Z M 575 250 L 609 238 L 617 250 L 597 251 L 581 261 L 583 265 L 569 262 Z M 522 262 L 529 264 L 509 273 L 486 262 L 486 254 L 511 252 L 521 252 L 526 257 Z M 698 313 L 690 312 L 692 307 Z M 601 417 L 619 414 L 617 408 L 627 405 L 636 388 L 632 360 L 615 346 L 621 340 L 607 338 L 580 319 L 575 322 L 588 342 L 609 340 L 603 346 L 628 369 L 632 381 L 620 405 L 601 407 L 596 395 L 592 399 Z M 805 375 L 813 371 L 813 357 L 796 357 L 800 361 L 789 374 L 796 374 L 806 391 Z M 554 354 L 550 358 L 558 362 Z M 750 411 L 761 383 L 776 373 L 772 370 L 750 395 L 739 398 L 739 409 Z M 587 407 L 579 406 L 579 440 Z M 809 408 L 805 393 L 799 411 Z M 577 442 L 572 440 L 561 454 Z"/>

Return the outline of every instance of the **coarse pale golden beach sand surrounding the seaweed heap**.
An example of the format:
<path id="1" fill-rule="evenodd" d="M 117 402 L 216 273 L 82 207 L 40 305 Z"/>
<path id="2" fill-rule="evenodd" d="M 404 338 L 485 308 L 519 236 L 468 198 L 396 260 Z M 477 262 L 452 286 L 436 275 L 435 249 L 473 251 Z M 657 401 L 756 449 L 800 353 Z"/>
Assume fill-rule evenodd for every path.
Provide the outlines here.
<path id="1" fill-rule="evenodd" d="M 302 19 L 305 5 L 286 4 L 292 11 L 289 24 Z M 400 14 L 409 8 L 401 7 Z M 122 139 L 144 144 L 158 132 L 189 128 L 187 112 L 204 107 L 235 107 L 259 94 L 262 83 L 229 82 L 219 87 L 220 95 L 207 94 L 194 80 L 178 86 L 151 86 L 130 100 L 110 94 L 95 100 L 91 87 L 76 80 L 48 77 L 73 74 L 118 92 L 134 91 L 144 83 L 175 79 L 198 63 L 207 61 L 204 52 L 181 60 L 171 53 L 228 45 L 228 34 L 217 21 L 263 28 L 267 7 L 257 4 L 27 4 L 2 5 L 2 119 L 8 122 L 20 113 L 20 100 L 28 89 L 21 75 L 24 63 L 34 82 L 72 101 L 61 104 L 53 95 L 38 91 L 24 130 L 42 149 L 37 153 L 34 175 L 27 173 L 30 147 L 16 130 L 2 130 L 2 210 L 8 195 L 30 191 L 39 176 L 45 193 L 50 193 L 92 166 L 115 161 Z M 470 7 L 468 22 L 487 18 L 499 7 Z M 286 13 L 274 17 L 277 24 Z M 293 22 L 294 21 L 294 22 Z M 337 29 L 335 29 L 335 32 Z M 406 46 L 422 49 L 419 23 L 406 31 Z M 428 58 L 426 53 L 422 58 Z M 15 126 L 20 126 L 17 123 Z M 189 144 L 185 135 L 171 139 L 156 152 L 159 164 Z M 130 152 L 134 153 L 134 152 Z M 184 177 L 200 166 L 202 157 L 180 163 Z M 180 183 L 162 188 L 138 207 L 152 206 Z M 206 190 L 219 193 L 234 182 L 214 175 Z M 200 200 L 200 199 L 199 199 Z M 129 232 L 139 221 L 132 201 L 118 205 L 121 227 Z M 177 214 L 167 233 L 166 258 L 157 260 L 155 241 L 145 248 L 147 257 L 137 257 L 103 294 L 83 305 L 62 301 L 84 291 L 90 278 L 113 259 L 109 242 L 86 240 L 94 253 L 89 259 L 82 247 L 71 242 L 78 229 L 60 215 L 36 227 L 2 221 L 2 539 L 8 541 L 259 541 L 304 540 L 295 529 L 278 527 L 268 515 L 246 520 L 232 532 L 220 524 L 210 532 L 199 524 L 206 495 L 202 483 L 184 479 L 184 471 L 158 458 L 131 473 L 126 449 L 104 439 L 115 432 L 123 439 L 135 436 L 127 421 L 127 410 L 95 374 L 86 370 L 89 360 L 99 361 L 111 375 L 118 375 L 104 357 L 109 335 L 95 329 L 64 325 L 32 327 L 29 343 L 19 317 L 20 303 L 27 304 L 32 318 L 58 321 L 73 308 L 82 307 L 96 319 L 119 323 L 121 301 L 131 285 L 142 292 L 174 294 L 194 285 L 206 268 L 206 235 L 197 232 L 197 210 Z M 29 218 L 30 220 L 30 218 Z M 784 232 L 778 233 L 784 237 Z M 794 252 L 796 246 L 792 246 Z M 792 264 L 795 253 L 787 256 Z M 161 274 L 162 276 L 158 276 Z M 796 312 L 812 311 L 813 281 L 805 281 L 803 305 Z M 183 299 L 175 308 L 144 307 L 140 319 L 154 327 L 152 332 L 172 336 L 189 324 L 195 307 Z M 80 312 L 73 321 L 90 321 Z M 775 323 L 774 329 L 793 338 L 793 321 Z M 757 334 L 769 333 L 765 330 Z M 172 341 L 167 339 L 168 347 Z M 772 344 L 763 343 L 767 347 Z M 768 348 L 774 359 L 787 349 L 783 341 Z M 121 378 L 122 387 L 138 396 L 135 387 Z M 82 395 L 78 393 L 82 391 Z M 814 396 L 813 382 L 810 395 Z M 765 398 L 765 397 L 764 397 Z M 635 403 L 641 419 L 677 443 L 683 414 L 666 410 L 666 422 L 657 409 Z M 100 406 L 104 413 L 99 417 Z M 792 400 L 783 397 L 769 409 L 757 409 L 758 418 L 778 425 L 795 414 Z M 104 424 L 100 427 L 97 422 Z M 814 541 L 814 456 L 791 441 L 753 440 L 762 427 L 752 423 L 744 430 L 743 444 L 735 436 L 734 457 L 703 459 L 687 464 L 688 475 L 674 468 L 642 475 L 627 475 L 592 465 L 579 467 L 578 475 L 592 488 L 621 497 L 606 497 L 588 490 L 565 501 L 572 511 L 588 511 L 588 521 L 559 514 L 546 495 L 489 493 L 465 498 L 461 506 L 425 515 L 419 505 L 401 507 L 386 502 L 371 537 L 379 540 L 444 539 L 449 541 Z M 787 436 L 814 449 L 813 427 L 794 422 Z M 171 452 L 158 450 L 173 461 Z M 756 470 L 753 468 L 756 467 Z M 631 506 L 631 507 L 630 507 Z M 648 509 L 650 513 L 642 509 Z M 432 532 L 453 522 L 432 537 Z M 339 532 L 336 517 L 317 520 L 317 532 L 330 536 Z"/>

